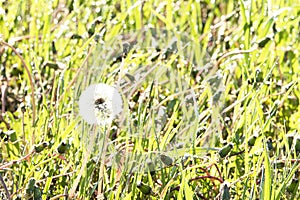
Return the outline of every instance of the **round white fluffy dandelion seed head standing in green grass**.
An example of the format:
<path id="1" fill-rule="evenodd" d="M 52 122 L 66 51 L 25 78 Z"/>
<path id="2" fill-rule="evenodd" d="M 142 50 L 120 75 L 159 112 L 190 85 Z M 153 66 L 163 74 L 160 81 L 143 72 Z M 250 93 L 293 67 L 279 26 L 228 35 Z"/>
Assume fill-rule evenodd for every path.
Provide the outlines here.
<path id="1" fill-rule="evenodd" d="M 109 124 L 122 108 L 118 90 L 104 83 L 90 85 L 79 98 L 79 113 L 89 124 Z"/>

